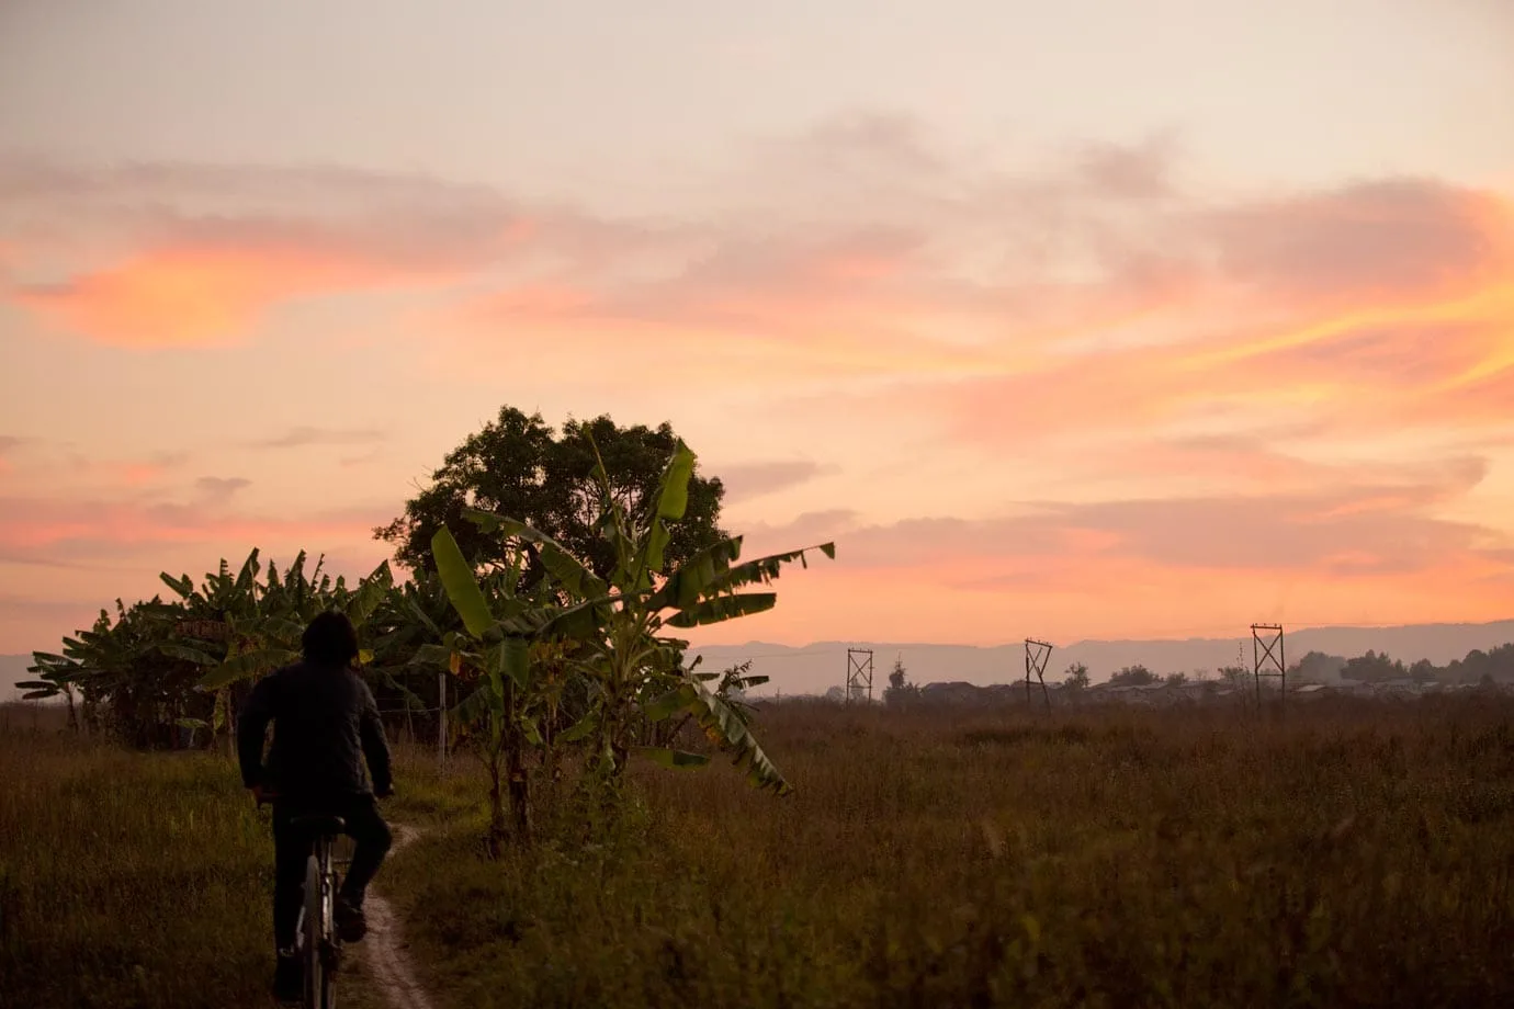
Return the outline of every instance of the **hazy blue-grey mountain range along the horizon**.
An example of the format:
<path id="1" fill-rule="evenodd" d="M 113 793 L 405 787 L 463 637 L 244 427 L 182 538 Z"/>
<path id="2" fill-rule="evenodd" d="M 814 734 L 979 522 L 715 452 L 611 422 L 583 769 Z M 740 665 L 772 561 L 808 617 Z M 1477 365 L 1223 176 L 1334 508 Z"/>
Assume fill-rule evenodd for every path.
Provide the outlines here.
<path id="1" fill-rule="evenodd" d="M 1491 649 L 1514 641 L 1514 620 L 1496 623 L 1419 623 L 1393 628 L 1307 628 L 1290 631 L 1284 638 L 1290 664 L 1308 652 L 1325 652 L 1352 658 L 1367 650 L 1384 652 L 1405 664 L 1428 658 L 1444 666 L 1464 658 L 1473 649 Z M 916 684 L 963 681 L 989 685 L 1025 679 L 1025 646 L 1022 643 L 977 647 L 970 644 L 911 644 L 887 641 L 816 641 L 815 644 L 710 644 L 692 649 L 704 655 L 704 669 L 721 670 L 733 663 L 752 661 L 752 673 L 771 676 L 757 693 L 819 694 L 840 687 L 846 678 L 846 649 L 872 649 L 874 694 L 881 694 L 889 682 L 889 670 L 896 658 L 904 661 L 910 681 Z M 1154 673 L 1195 673 L 1222 666 L 1251 666 L 1251 640 L 1187 638 L 1182 641 L 1078 641 L 1058 647 L 1046 663 L 1046 679 L 1061 679 L 1073 663 L 1089 667 L 1095 682 L 1125 666 L 1145 666 Z M 20 696 L 12 684 L 30 679 L 26 667 L 30 655 L 0 655 L 0 700 Z"/>

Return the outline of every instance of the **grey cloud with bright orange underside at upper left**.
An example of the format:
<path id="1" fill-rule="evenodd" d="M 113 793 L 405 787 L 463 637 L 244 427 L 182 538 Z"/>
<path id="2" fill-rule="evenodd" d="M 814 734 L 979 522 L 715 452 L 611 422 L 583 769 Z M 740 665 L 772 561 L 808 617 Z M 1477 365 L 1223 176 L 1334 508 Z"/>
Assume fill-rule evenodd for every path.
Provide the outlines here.
<path id="1" fill-rule="evenodd" d="M 14 284 L 11 300 L 67 330 L 132 348 L 224 345 L 295 300 L 447 284 L 544 259 L 578 262 L 637 234 L 421 175 L 0 166 L 0 241 L 8 222 L 38 218 L 61 245 L 77 245 L 71 221 L 88 218 L 97 233 L 91 245 L 109 233 L 123 251 L 98 253 L 61 280 Z"/>

